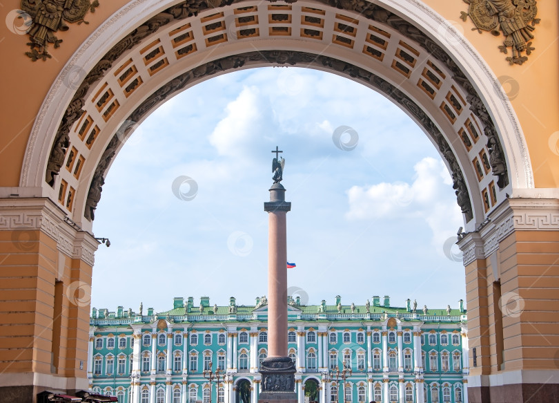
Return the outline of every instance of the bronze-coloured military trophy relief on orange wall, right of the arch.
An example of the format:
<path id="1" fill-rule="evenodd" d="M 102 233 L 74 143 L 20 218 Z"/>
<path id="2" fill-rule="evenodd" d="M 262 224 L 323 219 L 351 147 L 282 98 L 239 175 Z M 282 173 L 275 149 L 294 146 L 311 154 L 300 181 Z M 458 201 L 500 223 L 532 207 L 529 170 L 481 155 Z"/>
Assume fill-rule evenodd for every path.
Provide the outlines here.
<path id="1" fill-rule="evenodd" d="M 509 64 L 522 64 L 528 60 L 532 50 L 533 30 L 540 19 L 536 18 L 536 0 L 463 0 L 468 3 L 468 11 L 462 11 L 460 18 L 470 17 L 475 25 L 472 30 L 489 31 L 496 37 L 501 34 L 504 41 L 499 50 Z M 509 50 L 511 53 L 509 53 Z"/>

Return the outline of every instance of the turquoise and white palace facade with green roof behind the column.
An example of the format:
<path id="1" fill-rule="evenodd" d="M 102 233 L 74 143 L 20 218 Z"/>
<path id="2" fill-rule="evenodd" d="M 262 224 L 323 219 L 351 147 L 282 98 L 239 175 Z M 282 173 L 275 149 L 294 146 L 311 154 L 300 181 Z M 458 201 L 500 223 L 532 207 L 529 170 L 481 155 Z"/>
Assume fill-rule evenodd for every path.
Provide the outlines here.
<path id="1" fill-rule="evenodd" d="M 342 305 L 339 296 L 334 305 L 289 301 L 298 403 L 468 402 L 462 301 L 458 309 L 436 310 L 410 300 L 392 307 L 389 297 L 364 306 Z M 267 352 L 266 308 L 266 297 L 253 306 L 237 306 L 233 297 L 229 306 L 210 306 L 208 297 L 199 305 L 175 298 L 173 310 L 159 313 L 93 308 L 90 388 L 121 403 L 255 403 Z M 204 374 L 210 362 L 211 383 Z M 344 367 L 351 368 L 345 379 Z"/>

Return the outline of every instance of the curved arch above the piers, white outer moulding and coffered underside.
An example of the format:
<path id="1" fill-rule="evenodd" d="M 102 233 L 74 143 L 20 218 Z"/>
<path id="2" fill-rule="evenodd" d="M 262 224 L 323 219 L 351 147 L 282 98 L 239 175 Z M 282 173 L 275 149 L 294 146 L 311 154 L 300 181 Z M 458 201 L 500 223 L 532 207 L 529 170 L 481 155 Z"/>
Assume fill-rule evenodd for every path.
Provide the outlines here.
<path id="1" fill-rule="evenodd" d="M 398 104 L 449 167 L 469 229 L 513 187 L 533 187 L 522 133 L 491 72 L 419 1 L 228 1 L 212 8 L 197 0 L 139 13 L 135 3 L 142 2 L 95 32 L 61 73 L 22 170 L 23 186 L 41 187 L 84 229 L 92 227 L 110 164 L 150 112 L 205 79 L 260 66 L 330 71 Z M 117 26 L 119 19 L 126 21 Z M 80 79 L 71 81 L 72 74 Z"/>

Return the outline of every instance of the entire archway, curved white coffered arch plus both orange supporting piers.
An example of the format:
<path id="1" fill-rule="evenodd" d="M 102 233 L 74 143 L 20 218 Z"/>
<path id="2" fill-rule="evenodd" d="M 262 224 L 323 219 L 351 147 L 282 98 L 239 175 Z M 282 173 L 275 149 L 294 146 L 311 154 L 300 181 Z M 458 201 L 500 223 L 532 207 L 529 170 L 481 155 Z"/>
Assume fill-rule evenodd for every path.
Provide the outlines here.
<path id="1" fill-rule="evenodd" d="M 10 261 L 26 262 L 31 279 L 5 297 L 8 305 L 30 303 L 19 311 L 30 327 L 17 335 L 2 367 L 10 391 L 31 396 L 48 385 L 72 390 L 87 383 L 84 294 L 97 247 L 92 221 L 106 172 L 135 126 L 177 91 L 264 65 L 332 71 L 384 93 L 440 152 L 464 213 L 459 237 L 473 401 L 487 401 L 489 383 L 497 394 L 513 384 L 529 393 L 537 371 L 556 371 L 553 359 L 541 358 L 549 353 L 538 339 L 555 330 L 527 327 L 542 309 L 544 328 L 557 321 L 552 307 L 532 301 L 529 278 L 536 270 L 545 280 L 556 268 L 559 194 L 532 190 L 516 111 L 487 62 L 447 21 L 416 0 L 142 3 L 130 1 L 77 48 L 35 119 L 19 187 L 3 189 L 7 253 Z M 534 269 L 531 251 L 541 249 L 545 259 Z M 546 292 L 556 290 L 551 287 Z M 17 293 L 21 288 L 25 295 Z M 502 312 L 502 298 L 533 303 L 511 315 Z M 501 376 L 503 368 L 510 376 Z M 532 375 L 517 376 L 528 370 Z"/>

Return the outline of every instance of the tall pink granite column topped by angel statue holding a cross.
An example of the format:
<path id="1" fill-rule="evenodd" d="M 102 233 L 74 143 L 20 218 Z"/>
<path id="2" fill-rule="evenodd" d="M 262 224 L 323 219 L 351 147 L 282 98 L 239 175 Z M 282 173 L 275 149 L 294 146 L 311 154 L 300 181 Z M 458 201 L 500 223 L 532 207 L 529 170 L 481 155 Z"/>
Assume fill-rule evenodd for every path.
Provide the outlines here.
<path id="1" fill-rule="evenodd" d="M 274 183 L 268 212 L 268 357 L 262 362 L 262 393 L 259 403 L 297 403 L 295 363 L 287 356 L 287 239 L 286 214 L 291 203 L 285 201 L 282 181 L 285 160 L 275 147 L 272 162 Z"/>

